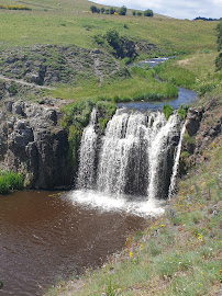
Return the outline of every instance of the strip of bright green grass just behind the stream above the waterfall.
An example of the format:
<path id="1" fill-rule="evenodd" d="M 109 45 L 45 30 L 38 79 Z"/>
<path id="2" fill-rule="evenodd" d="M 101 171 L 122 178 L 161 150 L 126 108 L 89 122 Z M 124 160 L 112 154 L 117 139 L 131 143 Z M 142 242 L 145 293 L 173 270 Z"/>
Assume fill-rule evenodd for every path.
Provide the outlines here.
<path id="1" fill-rule="evenodd" d="M 167 100 L 176 98 L 178 90 L 171 83 L 159 83 L 153 78 L 153 71 L 143 69 L 132 69 L 131 77 L 119 79 L 113 82 L 103 83 L 100 88 L 93 82 L 86 81 L 78 87 L 60 86 L 55 91 L 49 92 L 54 98 L 70 99 L 79 101 L 85 99 L 127 102 Z"/>

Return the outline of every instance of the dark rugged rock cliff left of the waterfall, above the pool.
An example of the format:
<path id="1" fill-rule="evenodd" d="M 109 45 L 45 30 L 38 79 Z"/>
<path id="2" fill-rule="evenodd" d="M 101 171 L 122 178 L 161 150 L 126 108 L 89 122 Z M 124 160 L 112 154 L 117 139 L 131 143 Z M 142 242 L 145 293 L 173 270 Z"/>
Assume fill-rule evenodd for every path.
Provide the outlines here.
<path id="1" fill-rule="evenodd" d="M 0 111 L 0 168 L 24 175 L 34 189 L 69 186 L 68 135 L 52 105 L 4 102 Z"/>

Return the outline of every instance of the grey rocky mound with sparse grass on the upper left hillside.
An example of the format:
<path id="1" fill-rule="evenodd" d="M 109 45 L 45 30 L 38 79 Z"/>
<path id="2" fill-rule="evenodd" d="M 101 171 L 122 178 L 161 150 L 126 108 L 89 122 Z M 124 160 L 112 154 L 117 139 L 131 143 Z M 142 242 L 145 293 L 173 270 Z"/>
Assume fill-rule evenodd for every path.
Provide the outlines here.
<path id="1" fill-rule="evenodd" d="M 75 84 L 89 77 L 101 82 L 113 73 L 123 76 L 121 65 L 111 55 L 75 45 L 35 45 L 4 50 L 0 53 L 0 60 L 1 75 L 37 86 Z"/>

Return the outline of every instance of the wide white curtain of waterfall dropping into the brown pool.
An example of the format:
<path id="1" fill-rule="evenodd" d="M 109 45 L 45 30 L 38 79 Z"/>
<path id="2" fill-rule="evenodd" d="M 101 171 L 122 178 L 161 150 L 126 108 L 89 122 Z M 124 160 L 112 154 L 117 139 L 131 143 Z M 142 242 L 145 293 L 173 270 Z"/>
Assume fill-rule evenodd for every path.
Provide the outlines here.
<path id="1" fill-rule="evenodd" d="M 118 110 L 99 137 L 93 110 L 81 139 L 78 189 L 166 198 L 176 179 L 180 126 L 176 114 L 166 121 L 159 111 Z"/>

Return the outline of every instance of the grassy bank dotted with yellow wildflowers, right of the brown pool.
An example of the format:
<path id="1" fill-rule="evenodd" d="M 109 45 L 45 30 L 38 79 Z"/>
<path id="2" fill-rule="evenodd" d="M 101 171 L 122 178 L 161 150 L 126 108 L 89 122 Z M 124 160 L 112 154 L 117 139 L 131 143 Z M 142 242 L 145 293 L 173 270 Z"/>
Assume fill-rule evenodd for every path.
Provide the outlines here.
<path id="1" fill-rule="evenodd" d="M 180 181 L 170 210 L 138 236 L 126 238 L 124 250 L 102 269 L 87 271 L 79 289 L 59 285 L 46 295 L 215 295 L 222 272 L 220 138 L 207 153 L 208 161 Z"/>

